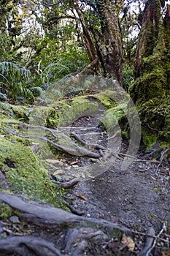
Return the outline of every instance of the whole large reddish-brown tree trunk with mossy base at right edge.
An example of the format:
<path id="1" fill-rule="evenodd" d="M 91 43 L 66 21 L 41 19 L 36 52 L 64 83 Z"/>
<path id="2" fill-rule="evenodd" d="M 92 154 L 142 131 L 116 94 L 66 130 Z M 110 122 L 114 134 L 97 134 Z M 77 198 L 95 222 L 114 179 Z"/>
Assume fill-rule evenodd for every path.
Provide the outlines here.
<path id="1" fill-rule="evenodd" d="M 136 49 L 136 79 L 130 89 L 139 108 L 147 148 L 158 140 L 166 142 L 166 146 L 170 143 L 170 8 L 167 4 L 163 19 L 161 7 L 161 1 L 150 0 L 144 8 Z"/>

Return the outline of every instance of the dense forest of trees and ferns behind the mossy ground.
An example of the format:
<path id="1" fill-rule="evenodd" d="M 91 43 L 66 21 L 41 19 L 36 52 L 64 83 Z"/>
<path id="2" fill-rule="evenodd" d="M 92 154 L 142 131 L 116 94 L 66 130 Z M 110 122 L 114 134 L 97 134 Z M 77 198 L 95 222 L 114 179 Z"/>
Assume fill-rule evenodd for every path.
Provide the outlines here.
<path id="1" fill-rule="evenodd" d="M 169 144 L 168 1 L 1 1 L 1 100 L 33 102 L 77 74 L 115 78 L 143 143 Z"/>

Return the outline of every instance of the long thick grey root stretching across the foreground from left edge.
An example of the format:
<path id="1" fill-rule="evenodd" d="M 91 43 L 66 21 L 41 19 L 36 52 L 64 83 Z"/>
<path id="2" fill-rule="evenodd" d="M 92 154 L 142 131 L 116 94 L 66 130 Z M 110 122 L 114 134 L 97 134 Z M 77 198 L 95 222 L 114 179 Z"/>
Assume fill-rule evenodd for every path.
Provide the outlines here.
<path id="1" fill-rule="evenodd" d="M 62 223 L 70 224 L 76 222 L 92 222 L 97 225 L 101 225 L 101 227 L 109 227 L 111 229 L 121 230 L 123 233 L 131 233 L 130 229 L 116 223 L 107 222 L 103 219 L 80 217 L 59 208 L 47 205 L 26 203 L 16 195 L 7 195 L 0 192 L 0 200 L 7 203 L 12 208 L 20 211 L 23 218 L 34 222 L 36 225 L 47 226 L 61 225 Z"/>

